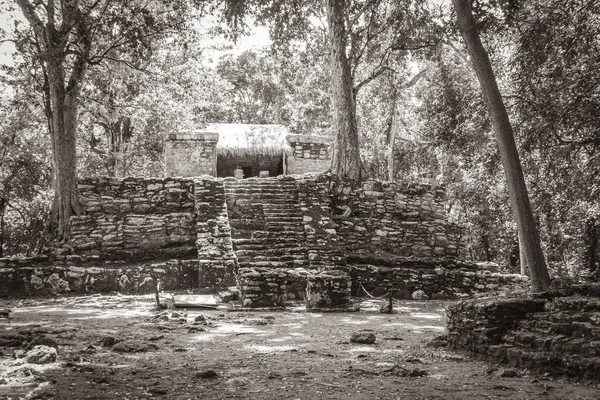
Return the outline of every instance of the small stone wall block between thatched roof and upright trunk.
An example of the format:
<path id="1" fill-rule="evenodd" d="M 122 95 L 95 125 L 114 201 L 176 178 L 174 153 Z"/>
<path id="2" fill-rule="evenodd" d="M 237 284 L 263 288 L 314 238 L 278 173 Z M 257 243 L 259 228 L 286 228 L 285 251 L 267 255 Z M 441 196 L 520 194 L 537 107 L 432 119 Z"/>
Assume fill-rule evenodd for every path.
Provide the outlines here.
<path id="1" fill-rule="evenodd" d="M 324 172 L 331 167 L 333 137 L 288 135 L 293 154 L 287 158 L 287 174 Z"/>

